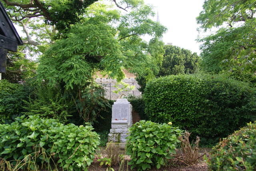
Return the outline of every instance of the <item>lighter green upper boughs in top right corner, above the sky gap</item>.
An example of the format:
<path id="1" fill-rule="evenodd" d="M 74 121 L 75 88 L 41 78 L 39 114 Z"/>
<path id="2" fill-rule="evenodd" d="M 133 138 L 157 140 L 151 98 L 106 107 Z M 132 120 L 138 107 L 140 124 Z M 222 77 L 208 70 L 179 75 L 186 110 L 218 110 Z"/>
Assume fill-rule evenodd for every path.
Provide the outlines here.
<path id="1" fill-rule="evenodd" d="M 237 22 L 254 20 L 255 8 L 255 0 L 205 0 L 196 19 L 206 30 L 224 23 L 233 27 Z"/>

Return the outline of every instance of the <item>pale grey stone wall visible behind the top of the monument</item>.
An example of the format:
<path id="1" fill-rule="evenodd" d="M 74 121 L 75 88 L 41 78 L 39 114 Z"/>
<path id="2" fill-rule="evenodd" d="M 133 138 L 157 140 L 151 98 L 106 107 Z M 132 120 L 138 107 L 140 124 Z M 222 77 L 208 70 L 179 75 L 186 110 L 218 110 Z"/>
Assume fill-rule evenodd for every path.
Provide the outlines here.
<path id="1" fill-rule="evenodd" d="M 122 97 L 125 97 L 126 95 L 134 95 L 137 97 L 141 96 L 140 91 L 138 88 L 140 88 L 140 85 L 138 85 L 135 78 L 125 78 L 123 80 L 124 83 L 129 84 L 130 86 L 134 86 L 134 89 L 128 90 L 128 91 L 122 91 L 119 93 L 114 93 L 113 91 L 116 91 L 117 88 L 114 87 L 116 85 L 116 80 L 107 79 L 107 78 L 96 78 L 95 79 L 98 84 L 101 84 L 106 89 L 106 95 L 105 97 L 110 100 L 116 100 L 118 97 L 120 97 L 122 94 Z M 119 85 L 119 87 L 122 87 L 122 85 Z"/>

